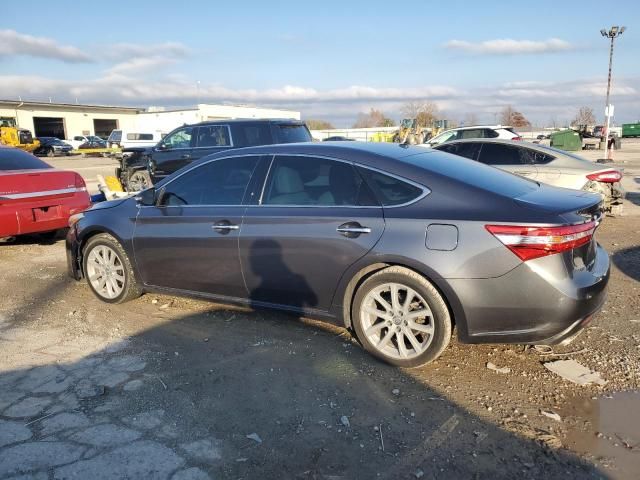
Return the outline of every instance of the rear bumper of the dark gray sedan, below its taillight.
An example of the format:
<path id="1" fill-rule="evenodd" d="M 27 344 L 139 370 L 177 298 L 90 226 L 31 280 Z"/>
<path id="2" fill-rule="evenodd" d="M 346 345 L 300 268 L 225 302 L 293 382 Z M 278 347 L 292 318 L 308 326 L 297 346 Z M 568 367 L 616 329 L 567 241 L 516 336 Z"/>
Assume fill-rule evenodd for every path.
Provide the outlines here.
<path id="1" fill-rule="evenodd" d="M 610 263 L 599 245 L 588 269 L 562 255 L 523 263 L 498 278 L 449 280 L 466 319 L 465 343 L 570 341 L 606 300 Z"/>

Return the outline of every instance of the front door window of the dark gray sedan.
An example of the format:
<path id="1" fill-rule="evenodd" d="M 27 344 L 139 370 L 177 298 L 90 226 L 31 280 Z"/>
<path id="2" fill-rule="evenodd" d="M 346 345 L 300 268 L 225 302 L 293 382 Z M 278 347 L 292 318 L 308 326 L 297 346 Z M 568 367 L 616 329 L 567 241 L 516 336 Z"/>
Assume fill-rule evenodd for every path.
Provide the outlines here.
<path id="1" fill-rule="evenodd" d="M 166 184 L 160 206 L 242 205 L 259 158 L 223 158 L 189 170 Z"/>

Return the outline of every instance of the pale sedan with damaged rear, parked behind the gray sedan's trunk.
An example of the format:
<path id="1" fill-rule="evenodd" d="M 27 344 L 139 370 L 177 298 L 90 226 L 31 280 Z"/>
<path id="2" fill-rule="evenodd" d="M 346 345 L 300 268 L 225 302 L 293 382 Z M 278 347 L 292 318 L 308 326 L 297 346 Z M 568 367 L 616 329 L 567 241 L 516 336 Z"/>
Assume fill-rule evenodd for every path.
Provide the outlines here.
<path id="1" fill-rule="evenodd" d="M 494 139 L 460 140 L 434 148 L 555 187 L 598 193 L 604 199 L 607 212 L 622 205 L 625 196 L 620 170 L 602 168 L 602 165 L 564 150 Z"/>

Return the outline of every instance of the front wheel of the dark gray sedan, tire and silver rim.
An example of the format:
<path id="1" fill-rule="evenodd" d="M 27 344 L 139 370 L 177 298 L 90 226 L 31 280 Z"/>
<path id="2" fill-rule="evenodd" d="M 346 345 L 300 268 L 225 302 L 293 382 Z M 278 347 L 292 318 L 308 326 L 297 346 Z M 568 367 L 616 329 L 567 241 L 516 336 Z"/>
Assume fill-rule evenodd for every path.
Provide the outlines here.
<path id="1" fill-rule="evenodd" d="M 142 294 L 129 257 L 109 234 L 89 239 L 84 248 L 83 267 L 89 287 L 104 302 L 124 303 Z"/>

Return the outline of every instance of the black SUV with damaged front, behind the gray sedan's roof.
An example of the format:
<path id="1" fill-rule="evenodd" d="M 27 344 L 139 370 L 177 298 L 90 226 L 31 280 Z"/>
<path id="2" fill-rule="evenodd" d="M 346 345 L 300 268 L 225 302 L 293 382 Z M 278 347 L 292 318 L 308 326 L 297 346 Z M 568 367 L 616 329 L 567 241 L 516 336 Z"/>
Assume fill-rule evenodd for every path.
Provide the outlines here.
<path id="1" fill-rule="evenodd" d="M 125 148 L 116 176 L 127 190 L 142 190 L 211 153 L 311 140 L 309 129 L 299 120 L 216 120 L 183 125 L 154 147 Z"/>

